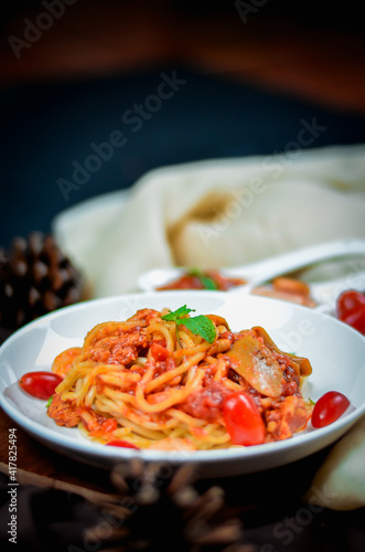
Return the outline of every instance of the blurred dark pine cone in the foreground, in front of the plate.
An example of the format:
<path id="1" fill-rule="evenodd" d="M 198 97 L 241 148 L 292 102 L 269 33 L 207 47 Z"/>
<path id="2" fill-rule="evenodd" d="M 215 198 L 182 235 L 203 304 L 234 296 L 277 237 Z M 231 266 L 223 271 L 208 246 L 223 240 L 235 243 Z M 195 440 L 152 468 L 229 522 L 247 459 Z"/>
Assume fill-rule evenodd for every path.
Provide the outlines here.
<path id="1" fill-rule="evenodd" d="M 241 522 L 225 503 L 224 490 L 212 486 L 200 493 L 194 479 L 189 464 L 174 469 L 135 458 L 118 465 L 111 481 L 120 501 L 104 505 L 103 521 L 86 532 L 86 540 L 103 550 L 107 545 L 108 552 L 253 552 L 241 543 Z"/>

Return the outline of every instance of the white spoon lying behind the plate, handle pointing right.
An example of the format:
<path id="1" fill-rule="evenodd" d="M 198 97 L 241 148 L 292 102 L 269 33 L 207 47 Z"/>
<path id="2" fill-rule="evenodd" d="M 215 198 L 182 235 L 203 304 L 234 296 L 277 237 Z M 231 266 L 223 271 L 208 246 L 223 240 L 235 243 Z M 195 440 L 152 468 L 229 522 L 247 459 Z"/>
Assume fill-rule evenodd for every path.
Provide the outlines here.
<path id="1" fill-rule="evenodd" d="M 246 286 L 251 288 L 269 282 L 276 276 L 304 268 L 314 263 L 355 255 L 365 256 L 365 240 L 347 238 L 325 242 L 276 255 L 257 263 L 219 268 L 219 272 L 227 277 L 240 277 L 245 279 L 247 282 Z M 183 267 L 148 270 L 138 278 L 138 287 L 142 291 L 152 291 L 178 278 L 184 270 L 186 268 L 184 269 Z"/>

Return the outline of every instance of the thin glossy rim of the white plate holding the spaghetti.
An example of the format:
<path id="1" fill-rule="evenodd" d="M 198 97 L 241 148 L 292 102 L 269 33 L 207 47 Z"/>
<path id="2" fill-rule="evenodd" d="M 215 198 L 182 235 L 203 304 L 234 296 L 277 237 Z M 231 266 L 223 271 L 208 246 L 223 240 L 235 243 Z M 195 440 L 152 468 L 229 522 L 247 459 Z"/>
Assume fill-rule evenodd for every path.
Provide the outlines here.
<path id="1" fill-rule="evenodd" d="M 204 291 L 203 293 L 200 290 L 186 290 L 186 293 L 183 291 L 175 291 L 175 290 L 167 290 L 167 291 L 158 291 L 158 293 L 136 293 L 136 294 L 122 294 L 118 296 L 111 296 L 111 297 L 104 297 L 104 298 L 96 298 L 96 299 L 89 299 L 76 305 L 71 305 L 67 307 L 63 307 L 56 311 L 50 312 L 47 315 L 44 315 L 19 330 L 17 330 L 14 333 L 12 333 L 0 347 L 0 361 L 3 361 L 2 359 L 3 354 L 6 354 L 7 348 L 18 340 L 23 333 L 28 333 L 33 330 L 33 328 L 36 328 L 39 326 L 44 326 L 46 325 L 47 321 L 52 320 L 53 318 L 58 318 L 60 316 L 64 316 L 66 312 L 72 312 L 73 310 L 80 310 L 80 309 L 87 309 L 89 305 L 92 306 L 97 306 L 98 304 L 110 304 L 115 302 L 116 300 L 121 301 L 124 298 L 130 299 L 131 297 L 146 297 L 148 300 L 149 296 L 176 296 L 176 295 L 190 295 L 190 296 L 201 296 L 204 298 L 208 298 L 208 296 L 223 296 L 227 297 L 227 293 L 224 291 Z M 234 294 L 230 294 L 230 296 Z M 267 301 L 281 305 L 282 302 L 279 299 L 271 298 L 271 297 L 259 297 L 259 296 L 249 296 L 247 295 L 246 298 L 249 298 L 250 301 L 253 302 L 261 302 L 266 304 Z M 303 311 L 308 314 L 308 307 L 301 306 L 301 305 L 290 305 L 290 307 L 294 311 Z M 362 340 L 363 336 L 361 336 L 356 330 L 353 328 L 343 325 L 340 320 L 334 319 L 333 317 L 320 312 L 320 311 L 314 311 L 310 310 L 315 317 L 322 318 L 324 317 L 325 320 L 331 320 L 331 323 L 334 325 L 342 325 L 343 330 L 346 332 L 352 333 L 353 336 L 356 336 L 356 339 Z M 364 341 L 364 350 L 365 350 L 365 341 Z M 12 401 L 10 401 L 6 395 L 4 395 L 4 390 L 7 388 L 3 388 L 4 385 L 4 380 L 1 378 L 1 391 L 0 391 L 0 406 L 3 408 L 3 411 L 9 415 L 9 417 L 15 422 L 22 429 L 24 429 L 26 433 L 31 434 L 33 438 L 37 440 L 42 440 L 43 443 L 46 443 L 46 445 L 50 448 L 53 448 L 51 444 L 55 444 L 56 448 L 60 449 L 60 447 L 64 447 L 65 445 L 68 447 L 68 449 L 73 453 L 82 454 L 82 455 L 90 455 L 93 458 L 98 457 L 103 459 L 111 459 L 111 460 L 128 460 L 135 456 L 140 457 L 143 461 L 173 461 L 181 464 L 182 461 L 190 461 L 190 463 L 204 463 L 204 464 L 218 464 L 222 461 L 229 463 L 234 460 L 241 459 L 243 463 L 247 463 L 250 459 L 254 460 L 257 455 L 260 456 L 261 459 L 268 455 L 273 455 L 278 456 L 280 454 L 283 454 L 288 448 L 292 448 L 293 443 L 297 443 L 297 446 L 302 446 L 302 447 L 310 447 L 311 445 L 315 445 L 315 449 L 321 449 L 323 448 L 322 445 L 319 445 L 319 442 L 326 440 L 329 437 L 331 437 L 332 434 L 341 432 L 341 435 L 343 435 L 346 431 L 348 431 L 364 414 L 365 414 L 365 401 L 359 407 L 354 408 L 352 412 L 348 412 L 345 417 L 341 417 L 337 421 L 335 421 L 333 424 L 315 429 L 313 432 L 308 432 L 308 433 L 301 433 L 294 435 L 290 439 L 285 439 L 280 442 L 275 442 L 275 443 L 266 443 L 262 445 L 255 445 L 250 447 L 237 447 L 237 448 L 221 448 L 221 449 L 214 449 L 214 450 L 158 450 L 158 449 L 142 449 L 142 450 L 133 450 L 133 449 L 118 449 L 114 450 L 112 447 L 106 448 L 104 445 L 90 442 L 86 438 L 84 440 L 78 440 L 74 439 L 72 436 L 64 435 L 64 434 L 57 434 L 55 433 L 52 428 L 43 426 L 39 422 L 26 417 L 25 414 L 23 414 L 21 411 L 19 411 L 15 405 L 12 404 Z M 8 384 L 9 385 L 9 384 Z M 75 429 L 77 428 L 68 428 L 68 429 Z M 324 445 L 325 446 L 325 445 Z M 64 453 L 65 454 L 65 453 Z M 309 453 L 311 454 L 311 453 Z M 66 456 L 69 456 L 66 454 Z M 303 455 L 305 456 L 305 455 Z M 82 460 L 87 464 L 86 460 Z M 289 460 L 291 461 L 291 460 Z M 106 466 L 107 467 L 107 466 Z M 243 471 L 245 473 L 245 471 Z"/>

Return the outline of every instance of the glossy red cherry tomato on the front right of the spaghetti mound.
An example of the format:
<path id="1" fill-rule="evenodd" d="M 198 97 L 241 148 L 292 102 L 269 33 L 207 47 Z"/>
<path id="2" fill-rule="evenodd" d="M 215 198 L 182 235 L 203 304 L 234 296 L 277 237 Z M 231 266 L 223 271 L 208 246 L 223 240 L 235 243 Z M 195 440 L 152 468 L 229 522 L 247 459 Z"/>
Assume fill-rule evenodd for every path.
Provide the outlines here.
<path id="1" fill-rule="evenodd" d="M 237 391 L 223 402 L 223 416 L 234 445 L 260 445 L 265 440 L 265 424 L 255 400 Z"/>

